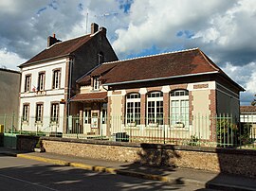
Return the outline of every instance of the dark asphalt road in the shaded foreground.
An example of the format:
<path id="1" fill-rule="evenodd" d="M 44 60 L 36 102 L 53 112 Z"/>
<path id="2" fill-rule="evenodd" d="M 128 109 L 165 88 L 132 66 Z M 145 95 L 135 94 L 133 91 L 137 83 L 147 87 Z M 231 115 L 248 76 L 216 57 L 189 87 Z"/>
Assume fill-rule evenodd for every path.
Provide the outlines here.
<path id="1" fill-rule="evenodd" d="M 0 155 L 0 190 L 201 190 L 202 185 L 169 184 L 87 171 Z M 202 189 L 206 190 L 206 189 Z"/>

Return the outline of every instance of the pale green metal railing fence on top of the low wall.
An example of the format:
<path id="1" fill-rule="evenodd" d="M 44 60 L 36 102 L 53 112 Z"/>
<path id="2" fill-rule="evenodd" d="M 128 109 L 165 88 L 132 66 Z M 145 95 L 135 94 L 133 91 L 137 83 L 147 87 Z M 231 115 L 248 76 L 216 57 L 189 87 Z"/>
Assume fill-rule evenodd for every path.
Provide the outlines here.
<path id="1" fill-rule="evenodd" d="M 79 139 L 190 145 L 198 147 L 256 148 L 256 124 L 238 123 L 229 114 L 195 115 L 179 120 L 161 118 L 131 120 L 122 116 L 67 118 L 36 117 L 23 120 L 0 115 L 0 131 L 15 134 L 62 136 Z"/>

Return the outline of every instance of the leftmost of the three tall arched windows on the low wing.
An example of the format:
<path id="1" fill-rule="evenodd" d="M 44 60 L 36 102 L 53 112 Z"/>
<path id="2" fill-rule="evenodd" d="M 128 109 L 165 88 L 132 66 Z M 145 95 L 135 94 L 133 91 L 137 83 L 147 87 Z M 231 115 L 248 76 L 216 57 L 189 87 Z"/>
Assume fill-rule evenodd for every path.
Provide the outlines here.
<path id="1" fill-rule="evenodd" d="M 140 124 L 140 95 L 129 94 L 126 96 L 126 124 L 137 126 Z"/>

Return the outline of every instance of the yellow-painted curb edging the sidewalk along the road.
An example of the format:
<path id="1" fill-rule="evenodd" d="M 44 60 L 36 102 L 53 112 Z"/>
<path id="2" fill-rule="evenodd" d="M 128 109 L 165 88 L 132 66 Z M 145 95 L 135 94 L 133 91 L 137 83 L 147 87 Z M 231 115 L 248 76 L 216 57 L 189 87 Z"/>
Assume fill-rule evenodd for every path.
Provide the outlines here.
<path id="1" fill-rule="evenodd" d="M 136 177 L 139 179 L 153 180 L 153 181 L 159 181 L 159 182 L 168 182 L 168 183 L 174 183 L 174 184 L 183 184 L 186 182 L 191 182 L 191 183 L 203 184 L 204 186 L 206 186 L 206 188 L 217 189 L 217 190 L 227 190 L 227 191 L 252 191 L 252 190 L 255 190 L 250 187 L 239 186 L 239 185 L 230 185 L 230 184 L 224 184 L 224 183 L 218 183 L 218 182 L 201 182 L 201 181 L 186 179 L 186 178 L 182 178 L 182 177 L 177 178 L 177 177 L 170 177 L 170 176 L 168 177 L 168 176 L 161 176 L 161 175 L 154 175 L 154 174 L 146 174 L 146 173 L 142 173 L 142 172 L 135 172 L 135 171 L 131 171 L 131 170 L 124 170 L 124 169 L 106 167 L 106 166 L 101 166 L 101 165 L 86 165 L 86 164 L 81 164 L 81 163 L 67 162 L 64 160 L 50 159 L 50 158 L 46 158 L 46 157 L 38 157 L 38 156 L 32 156 L 32 155 L 27 155 L 27 154 L 18 154 L 18 153 L 13 153 L 13 152 L 9 152 L 9 151 L 0 152 L 0 154 L 34 160 L 34 161 L 40 161 L 40 162 L 54 164 L 54 165 L 73 166 L 73 167 L 78 167 L 78 168 L 85 169 L 85 170 L 106 172 L 106 173 L 110 173 L 110 174 L 119 174 L 119 175 L 123 175 L 123 176 L 130 176 L 130 177 Z"/>

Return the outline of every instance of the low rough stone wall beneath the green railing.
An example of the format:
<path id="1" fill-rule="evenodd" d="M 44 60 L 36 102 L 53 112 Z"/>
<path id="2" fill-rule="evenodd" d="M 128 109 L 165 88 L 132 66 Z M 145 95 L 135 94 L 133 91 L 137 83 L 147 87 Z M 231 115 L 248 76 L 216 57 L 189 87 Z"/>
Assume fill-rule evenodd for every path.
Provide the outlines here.
<path id="1" fill-rule="evenodd" d="M 256 150 L 196 148 L 44 137 L 46 152 L 143 165 L 180 166 L 256 177 Z"/>

